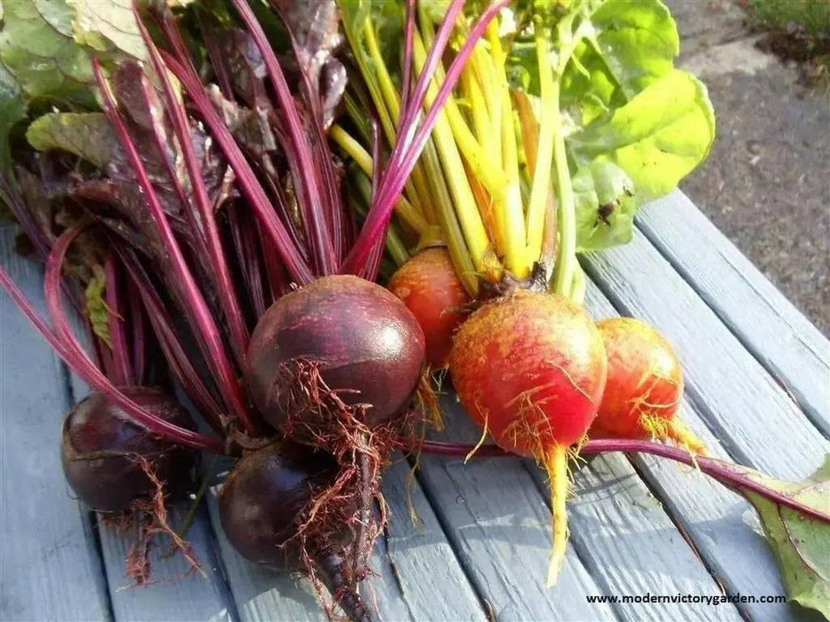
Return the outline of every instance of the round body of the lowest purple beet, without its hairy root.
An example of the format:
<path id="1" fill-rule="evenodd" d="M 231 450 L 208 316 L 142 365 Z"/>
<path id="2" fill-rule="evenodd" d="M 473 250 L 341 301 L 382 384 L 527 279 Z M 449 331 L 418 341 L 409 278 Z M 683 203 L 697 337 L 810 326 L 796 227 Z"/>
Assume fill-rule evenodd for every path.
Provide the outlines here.
<path id="1" fill-rule="evenodd" d="M 334 459 L 293 443 L 247 453 L 219 495 L 219 519 L 230 544 L 252 562 L 302 570 L 299 542 L 285 545 L 334 473 Z"/>

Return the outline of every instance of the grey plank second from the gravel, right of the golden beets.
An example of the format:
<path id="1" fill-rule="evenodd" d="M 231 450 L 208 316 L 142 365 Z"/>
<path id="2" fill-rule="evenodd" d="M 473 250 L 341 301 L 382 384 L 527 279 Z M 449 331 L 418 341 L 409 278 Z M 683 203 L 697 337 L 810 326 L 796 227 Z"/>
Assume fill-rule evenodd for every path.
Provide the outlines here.
<path id="1" fill-rule="evenodd" d="M 735 459 L 787 479 L 818 468 L 826 438 L 640 232 L 585 266 L 618 310 L 673 343 L 687 395 Z"/>

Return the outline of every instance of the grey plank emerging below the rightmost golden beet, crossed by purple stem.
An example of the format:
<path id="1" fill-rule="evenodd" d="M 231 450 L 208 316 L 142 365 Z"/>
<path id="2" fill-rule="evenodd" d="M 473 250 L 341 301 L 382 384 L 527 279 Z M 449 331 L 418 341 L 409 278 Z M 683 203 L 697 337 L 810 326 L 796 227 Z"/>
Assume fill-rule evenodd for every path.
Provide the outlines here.
<path id="1" fill-rule="evenodd" d="M 597 318 L 617 315 L 593 283 L 588 286 L 586 305 Z M 681 416 L 713 457 L 732 459 L 687 399 L 683 400 Z M 669 460 L 633 455 L 631 461 L 728 594 L 755 598 L 785 594 L 770 546 L 744 498 L 694 469 Z M 718 614 L 721 607 L 716 610 Z M 745 602 L 737 608 L 754 620 L 799 620 L 804 615 L 802 608 L 787 603 Z"/>

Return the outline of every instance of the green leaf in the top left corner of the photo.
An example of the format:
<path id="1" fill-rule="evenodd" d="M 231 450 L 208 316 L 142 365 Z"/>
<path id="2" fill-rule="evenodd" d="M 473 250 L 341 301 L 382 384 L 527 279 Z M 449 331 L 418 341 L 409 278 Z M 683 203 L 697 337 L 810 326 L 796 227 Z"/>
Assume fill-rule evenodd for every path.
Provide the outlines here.
<path id="1" fill-rule="evenodd" d="M 28 98 L 95 105 L 88 53 L 71 36 L 64 0 L 4 4 L 0 62 Z"/>

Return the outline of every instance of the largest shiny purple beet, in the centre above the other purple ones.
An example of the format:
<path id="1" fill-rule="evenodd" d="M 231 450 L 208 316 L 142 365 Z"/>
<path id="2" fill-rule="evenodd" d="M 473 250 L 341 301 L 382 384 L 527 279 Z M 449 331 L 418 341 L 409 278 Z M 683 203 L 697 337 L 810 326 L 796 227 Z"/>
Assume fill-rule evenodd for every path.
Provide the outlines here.
<path id="1" fill-rule="evenodd" d="M 284 363 L 318 363 L 326 385 L 347 404 L 367 403 L 366 423 L 405 411 L 424 363 L 423 331 L 398 297 L 351 275 L 326 276 L 278 299 L 262 315 L 248 347 L 247 384 L 269 423 L 282 427 Z"/>

